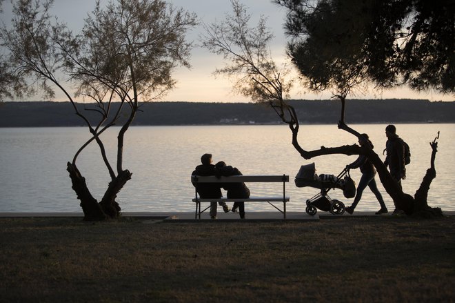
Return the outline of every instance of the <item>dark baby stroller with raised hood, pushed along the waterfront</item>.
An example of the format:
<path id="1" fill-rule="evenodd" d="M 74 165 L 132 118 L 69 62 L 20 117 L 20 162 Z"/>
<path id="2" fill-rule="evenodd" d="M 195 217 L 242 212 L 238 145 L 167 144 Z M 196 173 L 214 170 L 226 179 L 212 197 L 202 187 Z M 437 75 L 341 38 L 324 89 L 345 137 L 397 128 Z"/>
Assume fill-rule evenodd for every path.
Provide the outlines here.
<path id="1" fill-rule="evenodd" d="M 347 198 L 356 195 L 356 186 L 349 175 L 349 168 L 345 168 L 339 175 L 316 175 L 314 163 L 301 166 L 295 177 L 297 187 L 311 186 L 321 189 L 321 192 L 314 197 L 307 199 L 305 211 L 308 215 L 316 215 L 317 209 L 329 211 L 332 215 L 343 215 L 345 204 L 339 200 L 331 199 L 327 193 L 334 188 L 343 190 Z M 344 178 L 343 178 L 344 177 Z M 316 209 L 317 208 L 317 209 Z"/>

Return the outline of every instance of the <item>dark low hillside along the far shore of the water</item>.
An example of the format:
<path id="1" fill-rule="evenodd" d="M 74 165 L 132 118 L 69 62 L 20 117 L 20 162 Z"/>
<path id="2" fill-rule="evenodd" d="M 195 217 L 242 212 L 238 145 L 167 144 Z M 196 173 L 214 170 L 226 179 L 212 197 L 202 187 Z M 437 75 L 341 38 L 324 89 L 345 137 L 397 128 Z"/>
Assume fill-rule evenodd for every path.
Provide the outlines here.
<path id="1" fill-rule="evenodd" d="M 337 100 L 292 100 L 303 124 L 336 124 Z M 78 104 L 93 108 L 94 104 Z M 119 104 L 114 104 L 114 110 Z M 128 108 L 128 107 L 125 107 Z M 114 111 L 112 111 L 114 112 Z M 88 111 L 93 123 L 97 113 Z M 126 115 L 123 115 L 123 119 Z M 365 123 L 455 122 L 455 101 L 385 99 L 348 100 L 345 121 Z M 120 121 L 121 122 L 121 121 Z M 252 103 L 152 102 L 143 104 L 133 125 L 279 124 L 267 106 Z M 120 123 L 119 123 L 120 124 Z M 0 127 L 83 126 L 69 102 L 20 101 L 0 103 Z"/>

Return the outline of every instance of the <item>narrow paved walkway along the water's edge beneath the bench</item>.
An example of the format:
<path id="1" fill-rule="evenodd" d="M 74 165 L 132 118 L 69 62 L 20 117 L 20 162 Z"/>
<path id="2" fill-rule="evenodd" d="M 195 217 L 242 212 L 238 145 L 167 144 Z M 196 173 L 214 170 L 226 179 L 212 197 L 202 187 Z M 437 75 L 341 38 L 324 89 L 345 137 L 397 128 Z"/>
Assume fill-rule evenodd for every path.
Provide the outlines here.
<path id="1" fill-rule="evenodd" d="M 443 211 L 444 215 L 455 215 L 455 211 Z M 198 222 L 212 221 L 208 213 L 202 213 L 201 220 L 194 219 L 194 212 L 125 212 L 123 217 L 140 217 L 143 219 L 162 219 L 165 222 Z M 353 215 L 344 213 L 343 215 L 332 215 L 327 212 L 318 211 L 314 216 L 305 212 L 287 212 L 287 220 L 314 221 L 319 219 L 336 219 L 341 217 L 385 217 L 391 216 L 392 212 L 385 215 L 375 215 L 374 211 L 356 211 Z M 74 213 L 0 213 L 0 217 L 83 217 L 82 212 Z M 283 214 L 278 211 L 274 212 L 250 212 L 246 213 L 246 219 L 242 221 L 280 221 L 283 220 Z M 240 221 L 239 213 L 219 212 L 217 221 Z"/>

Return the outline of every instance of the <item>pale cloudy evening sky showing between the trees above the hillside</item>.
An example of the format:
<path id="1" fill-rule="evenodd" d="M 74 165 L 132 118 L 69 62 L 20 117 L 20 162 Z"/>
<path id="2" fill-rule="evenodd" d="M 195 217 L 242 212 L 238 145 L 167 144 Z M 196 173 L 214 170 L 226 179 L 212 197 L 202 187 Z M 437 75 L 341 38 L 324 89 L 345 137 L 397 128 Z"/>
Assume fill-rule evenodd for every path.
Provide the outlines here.
<path id="1" fill-rule="evenodd" d="M 101 4 L 107 3 L 101 0 Z M 232 12 L 230 0 L 168 0 L 174 7 L 184 8 L 194 12 L 199 17 L 201 23 L 210 24 L 214 21 L 222 21 L 225 14 Z M 94 8 L 94 0 L 54 0 L 52 12 L 60 20 L 68 23 L 68 26 L 75 32 L 81 30 L 83 20 Z M 272 56 L 276 63 L 287 61 L 285 55 L 286 37 L 284 35 L 283 23 L 285 21 L 285 9 L 276 6 L 270 0 L 241 0 L 248 12 L 252 14 L 252 24 L 256 25 L 259 16 L 267 17 L 269 26 L 275 35 L 271 44 Z M 10 0 L 3 1 L 3 14 L 0 14 L 1 21 L 8 24 L 10 21 Z M 188 39 L 194 41 L 194 48 L 190 58 L 191 69 L 177 68 L 174 72 L 176 88 L 166 95 L 162 101 L 202 101 L 202 102 L 249 102 L 250 99 L 232 92 L 232 83 L 225 77 L 213 75 L 216 68 L 225 65 L 223 57 L 213 55 L 208 50 L 198 46 L 199 36 L 203 33 L 202 24 L 194 28 L 189 34 Z M 316 94 L 303 90 L 298 83 L 294 84 L 291 91 L 291 99 L 330 99 L 330 91 Z M 363 95 L 352 96 L 355 99 L 429 99 L 430 101 L 454 101 L 454 95 L 442 95 L 438 92 L 414 92 L 407 88 L 396 88 L 383 92 L 373 90 L 365 92 Z M 37 99 L 37 97 L 34 97 Z M 65 100 L 63 95 L 56 91 L 54 101 Z"/>

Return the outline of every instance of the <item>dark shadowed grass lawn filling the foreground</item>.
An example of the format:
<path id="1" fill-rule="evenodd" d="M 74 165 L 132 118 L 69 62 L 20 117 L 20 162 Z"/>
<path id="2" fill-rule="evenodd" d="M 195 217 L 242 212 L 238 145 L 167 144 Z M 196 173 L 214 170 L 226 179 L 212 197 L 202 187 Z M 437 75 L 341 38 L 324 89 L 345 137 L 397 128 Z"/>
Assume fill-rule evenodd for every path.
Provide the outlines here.
<path id="1" fill-rule="evenodd" d="M 0 218 L 1 302 L 454 302 L 455 217 Z"/>

